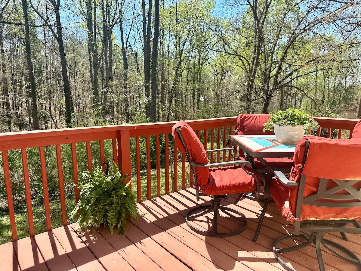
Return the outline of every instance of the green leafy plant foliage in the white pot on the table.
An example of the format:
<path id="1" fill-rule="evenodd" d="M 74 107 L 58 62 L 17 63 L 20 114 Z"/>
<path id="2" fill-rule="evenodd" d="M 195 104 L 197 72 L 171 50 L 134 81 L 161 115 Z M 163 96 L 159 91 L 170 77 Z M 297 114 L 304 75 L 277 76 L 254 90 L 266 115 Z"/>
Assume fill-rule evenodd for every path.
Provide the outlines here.
<path id="1" fill-rule="evenodd" d="M 308 133 L 310 128 L 319 127 L 317 121 L 305 113 L 300 112 L 298 109 L 293 108 L 288 108 L 284 111 L 278 110 L 271 114 L 269 120 L 264 124 L 266 127 L 263 129 L 263 132 L 265 130 L 273 131 L 273 124 L 277 124 L 279 126 L 292 125 L 292 127 L 295 127 L 296 125 L 303 125 L 303 129 L 305 129 Z"/>

